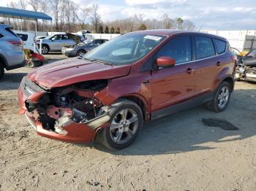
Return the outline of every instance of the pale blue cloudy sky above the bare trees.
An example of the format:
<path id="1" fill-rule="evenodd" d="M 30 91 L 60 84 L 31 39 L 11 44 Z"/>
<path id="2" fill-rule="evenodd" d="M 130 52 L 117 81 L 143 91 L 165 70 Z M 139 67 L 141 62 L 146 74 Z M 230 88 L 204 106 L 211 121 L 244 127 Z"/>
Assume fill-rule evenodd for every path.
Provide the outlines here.
<path id="1" fill-rule="evenodd" d="M 18 1 L 18 0 L 14 0 Z M 143 13 L 146 18 L 160 19 L 164 13 L 170 18 L 191 20 L 197 29 L 255 30 L 255 0 L 73 0 L 82 7 L 99 4 L 104 21 Z M 0 1 L 7 6 L 7 1 Z"/>

